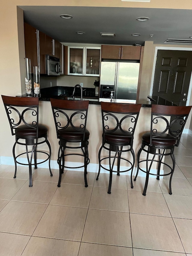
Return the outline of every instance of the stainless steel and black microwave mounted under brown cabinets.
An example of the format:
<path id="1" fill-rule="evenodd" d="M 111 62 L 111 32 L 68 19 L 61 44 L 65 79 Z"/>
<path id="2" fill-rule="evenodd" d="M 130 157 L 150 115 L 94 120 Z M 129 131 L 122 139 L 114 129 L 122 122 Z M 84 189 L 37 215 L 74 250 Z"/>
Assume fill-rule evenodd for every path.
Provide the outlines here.
<path id="1" fill-rule="evenodd" d="M 48 76 L 60 75 L 60 59 L 46 55 L 46 74 Z"/>

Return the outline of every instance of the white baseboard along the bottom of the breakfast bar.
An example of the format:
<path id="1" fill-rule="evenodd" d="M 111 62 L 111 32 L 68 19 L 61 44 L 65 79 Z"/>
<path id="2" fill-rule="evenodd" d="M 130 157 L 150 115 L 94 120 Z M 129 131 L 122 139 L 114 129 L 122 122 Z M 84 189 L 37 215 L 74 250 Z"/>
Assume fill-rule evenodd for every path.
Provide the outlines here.
<path id="1" fill-rule="evenodd" d="M 19 161 L 20 163 L 23 163 L 23 164 L 28 164 L 28 161 L 27 161 L 27 158 L 17 158 L 17 161 Z M 42 159 L 38 159 L 37 162 L 42 162 L 43 160 Z M 0 163 L 1 164 L 5 164 L 5 165 L 15 165 L 14 163 L 14 159 L 13 157 L 8 157 L 8 156 L 1 156 L 0 157 Z M 25 165 L 22 165 L 22 164 L 17 164 L 18 166 L 25 166 Z M 83 163 L 78 163 L 78 162 L 66 162 L 66 165 L 69 166 L 69 167 L 77 167 L 77 166 L 81 166 L 83 165 Z M 103 165 L 104 167 L 108 168 L 108 165 Z M 42 164 L 38 164 L 38 167 L 39 168 L 49 168 L 49 163 L 48 161 L 42 163 Z M 99 168 L 99 165 L 98 164 L 88 164 L 87 166 L 87 172 L 92 172 L 92 173 L 97 173 L 98 172 L 98 168 Z M 57 161 L 56 160 L 51 160 L 51 169 L 59 169 L 58 167 L 58 164 L 57 164 Z M 128 167 L 127 166 L 121 166 L 120 169 L 123 171 L 123 170 L 127 170 Z M 84 168 L 74 168 L 74 169 L 70 169 L 70 168 L 65 168 L 65 170 L 73 170 L 73 171 L 84 171 Z M 114 166 L 114 170 L 116 171 L 117 170 L 117 166 Z M 146 170 L 145 168 L 143 168 L 143 170 Z M 109 171 L 101 168 L 101 171 L 100 173 L 109 173 Z M 134 167 L 134 170 L 133 170 L 133 176 L 135 176 L 137 173 L 137 167 Z M 157 170 L 155 169 L 151 169 L 151 173 L 157 173 Z M 160 174 L 163 174 L 164 171 L 161 170 L 160 171 Z M 121 173 L 121 175 L 131 175 L 131 171 L 128 171 L 128 172 L 124 172 L 124 173 Z M 142 171 L 139 171 L 139 174 L 138 176 L 140 177 L 145 177 L 146 174 L 143 173 Z M 150 177 L 152 178 L 155 178 L 156 176 L 155 175 L 150 175 Z M 162 176 L 160 176 L 160 178 L 163 178 Z"/>

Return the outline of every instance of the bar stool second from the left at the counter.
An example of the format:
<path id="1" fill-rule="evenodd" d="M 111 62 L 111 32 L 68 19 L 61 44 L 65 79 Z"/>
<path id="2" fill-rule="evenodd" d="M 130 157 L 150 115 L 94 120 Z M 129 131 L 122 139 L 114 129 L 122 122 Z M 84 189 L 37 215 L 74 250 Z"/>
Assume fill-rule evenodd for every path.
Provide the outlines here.
<path id="1" fill-rule="evenodd" d="M 88 187 L 87 165 L 90 160 L 88 158 L 89 131 L 86 129 L 86 122 L 89 101 L 69 101 L 60 99 L 50 99 L 50 101 L 57 138 L 59 139 L 57 159 L 59 165 L 59 180 L 57 186 L 61 186 L 61 176 L 64 172 L 64 167 L 72 169 L 84 167 L 85 187 Z M 75 145 L 73 143 L 75 143 Z M 66 154 L 65 149 L 81 149 L 82 154 Z M 78 167 L 65 166 L 65 156 L 67 155 L 83 156 L 84 164 Z"/>

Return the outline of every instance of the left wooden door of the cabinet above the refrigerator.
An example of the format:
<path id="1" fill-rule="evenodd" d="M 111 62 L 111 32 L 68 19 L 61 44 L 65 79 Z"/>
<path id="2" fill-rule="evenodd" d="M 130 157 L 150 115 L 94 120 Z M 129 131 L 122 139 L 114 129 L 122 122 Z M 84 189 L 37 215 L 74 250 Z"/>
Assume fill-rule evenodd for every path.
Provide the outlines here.
<path id="1" fill-rule="evenodd" d="M 102 45 L 102 59 L 120 59 L 121 46 L 119 45 Z"/>

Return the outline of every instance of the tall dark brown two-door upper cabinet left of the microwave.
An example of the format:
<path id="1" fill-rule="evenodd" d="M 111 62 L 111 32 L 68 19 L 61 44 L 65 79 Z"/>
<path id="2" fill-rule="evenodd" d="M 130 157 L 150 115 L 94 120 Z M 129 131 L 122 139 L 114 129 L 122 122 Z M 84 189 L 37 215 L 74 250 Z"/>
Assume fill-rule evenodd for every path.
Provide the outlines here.
<path id="1" fill-rule="evenodd" d="M 31 59 L 31 71 L 33 66 L 40 67 L 40 73 L 46 74 L 45 66 L 45 34 L 24 23 L 25 55 Z"/>

